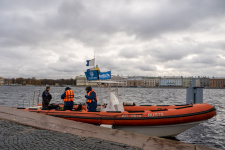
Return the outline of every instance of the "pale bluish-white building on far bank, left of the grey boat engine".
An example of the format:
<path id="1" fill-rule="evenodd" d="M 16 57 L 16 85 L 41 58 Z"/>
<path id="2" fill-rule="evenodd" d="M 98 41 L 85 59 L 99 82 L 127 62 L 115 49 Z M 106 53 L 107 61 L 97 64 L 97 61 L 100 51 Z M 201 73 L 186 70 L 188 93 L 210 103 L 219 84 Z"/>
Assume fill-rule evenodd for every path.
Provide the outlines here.
<path id="1" fill-rule="evenodd" d="M 181 87 L 183 77 L 161 77 L 161 87 Z"/>

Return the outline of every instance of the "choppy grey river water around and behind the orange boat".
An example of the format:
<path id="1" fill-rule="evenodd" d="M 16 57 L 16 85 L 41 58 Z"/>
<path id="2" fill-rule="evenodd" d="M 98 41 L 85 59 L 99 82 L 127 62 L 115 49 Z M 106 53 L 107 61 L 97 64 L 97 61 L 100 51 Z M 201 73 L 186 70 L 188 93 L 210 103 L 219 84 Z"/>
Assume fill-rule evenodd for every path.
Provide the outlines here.
<path id="1" fill-rule="evenodd" d="M 65 87 L 51 87 L 51 103 L 62 103 L 60 99 Z M 103 102 L 108 99 L 107 89 L 93 88 Z M 28 107 L 41 102 L 41 94 L 45 87 L 36 86 L 0 86 L 0 105 L 8 107 Z M 84 87 L 72 87 L 75 92 L 75 102 L 85 102 Z M 40 95 L 38 94 L 40 91 Z M 34 96 L 36 95 L 36 96 Z M 39 95 L 39 97 L 38 97 Z M 205 103 L 214 105 L 217 115 L 175 137 L 185 143 L 204 145 L 225 150 L 225 89 L 204 89 Z M 105 101 L 106 100 L 106 101 Z M 173 88 L 119 88 L 119 100 L 132 101 L 137 105 L 180 105 L 186 103 L 186 89 Z"/>

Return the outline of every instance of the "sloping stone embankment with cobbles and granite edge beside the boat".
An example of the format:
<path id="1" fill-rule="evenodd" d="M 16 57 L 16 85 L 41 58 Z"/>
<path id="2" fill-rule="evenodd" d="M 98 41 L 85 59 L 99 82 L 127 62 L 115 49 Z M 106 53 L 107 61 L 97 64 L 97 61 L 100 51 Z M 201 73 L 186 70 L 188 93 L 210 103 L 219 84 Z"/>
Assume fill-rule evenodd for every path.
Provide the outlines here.
<path id="1" fill-rule="evenodd" d="M 212 150 L 0 106 L 0 149 Z"/>

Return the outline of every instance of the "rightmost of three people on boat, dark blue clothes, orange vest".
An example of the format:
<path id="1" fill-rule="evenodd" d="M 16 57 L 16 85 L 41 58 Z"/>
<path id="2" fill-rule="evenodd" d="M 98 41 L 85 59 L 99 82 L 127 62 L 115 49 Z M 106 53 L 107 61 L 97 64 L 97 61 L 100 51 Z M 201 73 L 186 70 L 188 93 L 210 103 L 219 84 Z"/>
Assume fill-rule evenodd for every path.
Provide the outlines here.
<path id="1" fill-rule="evenodd" d="M 88 105 L 88 111 L 96 111 L 97 108 L 97 95 L 95 91 L 93 91 L 91 86 L 86 87 L 87 95 L 85 95 L 85 98 L 87 98 L 87 105 Z"/>

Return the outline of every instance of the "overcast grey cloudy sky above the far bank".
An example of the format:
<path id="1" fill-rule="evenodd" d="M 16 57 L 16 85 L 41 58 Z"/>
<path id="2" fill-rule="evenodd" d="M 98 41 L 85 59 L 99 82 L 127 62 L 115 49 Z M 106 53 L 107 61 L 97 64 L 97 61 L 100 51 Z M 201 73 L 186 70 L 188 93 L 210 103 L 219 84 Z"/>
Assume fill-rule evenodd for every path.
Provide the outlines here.
<path id="1" fill-rule="evenodd" d="M 0 76 L 225 77 L 224 0 L 0 0 Z"/>

